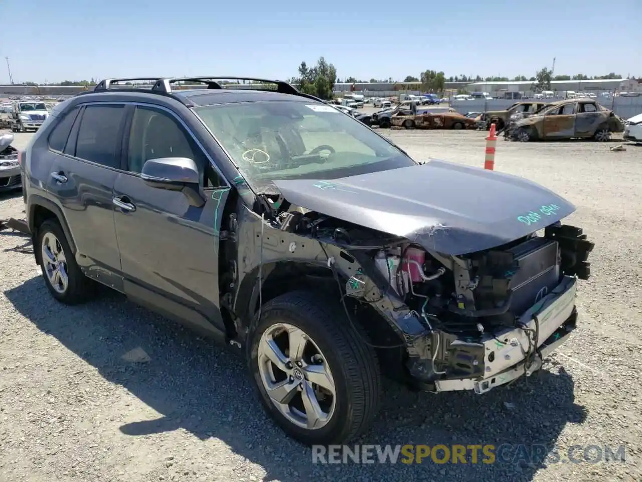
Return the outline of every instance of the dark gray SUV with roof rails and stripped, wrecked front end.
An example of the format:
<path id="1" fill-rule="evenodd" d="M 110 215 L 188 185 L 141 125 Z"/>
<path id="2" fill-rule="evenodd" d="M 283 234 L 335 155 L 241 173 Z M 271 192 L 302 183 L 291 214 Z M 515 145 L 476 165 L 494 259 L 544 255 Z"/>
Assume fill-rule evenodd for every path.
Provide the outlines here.
<path id="1" fill-rule="evenodd" d="M 415 161 L 284 82 L 128 80 L 56 106 L 21 154 L 46 285 L 73 304 L 102 283 L 245 353 L 297 440 L 367 429 L 382 375 L 484 393 L 575 329 L 593 243 L 550 190 Z"/>

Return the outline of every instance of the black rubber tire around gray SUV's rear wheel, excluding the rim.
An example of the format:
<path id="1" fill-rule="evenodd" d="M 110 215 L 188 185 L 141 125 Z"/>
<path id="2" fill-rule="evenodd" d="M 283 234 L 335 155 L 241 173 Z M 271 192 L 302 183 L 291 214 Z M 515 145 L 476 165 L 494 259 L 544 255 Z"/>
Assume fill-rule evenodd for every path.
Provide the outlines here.
<path id="1" fill-rule="evenodd" d="M 45 262 L 42 259 L 42 240 L 47 233 L 53 234 L 60 247 L 62 252 L 65 255 L 65 265 L 67 271 L 67 288 L 64 292 L 58 292 L 54 289 L 51 281 L 46 272 Z M 47 289 L 55 299 L 65 305 L 78 305 L 87 301 L 91 298 L 91 295 L 95 292 L 96 284 L 93 280 L 90 280 L 80 271 L 78 263 L 76 263 L 76 258 L 71 252 L 69 247 L 69 242 L 65 237 L 65 233 L 60 227 L 60 224 L 55 219 L 47 219 L 42 224 L 40 224 L 37 230 L 36 244 L 33 247 L 34 250 L 37 250 L 37 255 L 40 261 L 40 269 L 42 270 L 42 277 L 44 278 L 44 283 L 47 285 Z"/>

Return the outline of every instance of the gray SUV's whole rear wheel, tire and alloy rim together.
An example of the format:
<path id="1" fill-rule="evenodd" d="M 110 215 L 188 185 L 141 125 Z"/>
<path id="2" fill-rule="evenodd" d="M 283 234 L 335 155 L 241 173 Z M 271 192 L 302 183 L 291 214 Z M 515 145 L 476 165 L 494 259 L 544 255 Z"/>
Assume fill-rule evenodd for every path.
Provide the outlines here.
<path id="1" fill-rule="evenodd" d="M 56 220 L 48 219 L 40 224 L 35 249 L 39 249 L 42 276 L 54 298 L 66 305 L 76 305 L 91 296 L 94 282 L 80 271 Z"/>

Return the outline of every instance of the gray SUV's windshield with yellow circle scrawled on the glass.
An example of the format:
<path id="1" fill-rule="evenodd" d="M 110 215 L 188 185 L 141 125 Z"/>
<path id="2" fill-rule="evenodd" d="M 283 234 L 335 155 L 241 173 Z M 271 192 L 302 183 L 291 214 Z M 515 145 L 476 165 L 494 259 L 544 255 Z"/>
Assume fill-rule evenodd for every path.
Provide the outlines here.
<path id="1" fill-rule="evenodd" d="M 415 164 L 360 121 L 329 105 L 267 101 L 194 111 L 254 184 L 336 179 Z"/>

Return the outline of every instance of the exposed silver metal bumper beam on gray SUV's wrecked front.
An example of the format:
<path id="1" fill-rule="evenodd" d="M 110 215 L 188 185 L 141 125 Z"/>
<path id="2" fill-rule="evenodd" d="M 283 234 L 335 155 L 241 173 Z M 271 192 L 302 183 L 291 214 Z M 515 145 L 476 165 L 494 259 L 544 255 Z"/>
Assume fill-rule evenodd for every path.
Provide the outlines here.
<path id="1" fill-rule="evenodd" d="M 505 328 L 503 331 L 486 335 L 477 343 L 450 343 L 447 349 L 449 355 L 455 359 L 468 359 L 471 366 L 478 369 L 479 375 L 436 380 L 435 391 L 473 390 L 476 393 L 485 393 L 496 386 L 507 384 L 525 374 L 529 376 L 539 370 L 542 359 L 568 340 L 575 329 L 576 292 L 577 279 L 564 276 L 555 289 L 520 317 L 518 323 L 526 330 Z M 539 350 L 535 350 L 532 336 L 535 330 L 539 331 Z"/>

